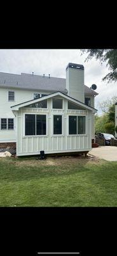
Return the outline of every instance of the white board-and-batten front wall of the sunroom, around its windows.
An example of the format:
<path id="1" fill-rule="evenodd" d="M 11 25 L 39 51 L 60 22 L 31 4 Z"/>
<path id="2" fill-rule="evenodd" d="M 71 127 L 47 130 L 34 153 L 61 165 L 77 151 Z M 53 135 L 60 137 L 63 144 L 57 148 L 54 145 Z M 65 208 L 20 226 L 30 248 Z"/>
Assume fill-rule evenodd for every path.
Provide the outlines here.
<path id="1" fill-rule="evenodd" d="M 47 135 L 25 136 L 25 113 L 47 115 Z M 62 135 L 53 135 L 53 115 L 62 115 Z M 69 135 L 69 115 L 86 116 L 86 134 Z M 67 100 L 63 100 L 63 109 L 52 109 L 52 99 L 48 99 L 48 109 L 20 108 L 17 111 L 17 156 L 60 152 L 89 151 L 92 148 L 91 111 L 68 110 Z"/>

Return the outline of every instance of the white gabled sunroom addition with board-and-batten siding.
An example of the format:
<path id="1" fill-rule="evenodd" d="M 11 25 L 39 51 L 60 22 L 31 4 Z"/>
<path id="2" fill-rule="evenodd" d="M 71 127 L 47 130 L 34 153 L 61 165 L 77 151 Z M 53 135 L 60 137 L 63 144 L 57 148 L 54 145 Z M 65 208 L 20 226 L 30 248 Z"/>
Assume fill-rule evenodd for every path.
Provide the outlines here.
<path id="1" fill-rule="evenodd" d="M 88 152 L 97 109 L 55 92 L 11 107 L 16 116 L 17 156 Z"/>

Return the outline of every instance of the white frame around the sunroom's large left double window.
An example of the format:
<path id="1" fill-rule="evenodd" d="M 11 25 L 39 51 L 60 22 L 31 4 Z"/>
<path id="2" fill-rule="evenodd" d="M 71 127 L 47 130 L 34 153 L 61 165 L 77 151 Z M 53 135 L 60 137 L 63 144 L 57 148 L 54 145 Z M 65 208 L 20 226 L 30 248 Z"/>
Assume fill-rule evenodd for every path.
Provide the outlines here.
<path id="1" fill-rule="evenodd" d="M 43 134 L 43 135 L 25 135 L 25 115 L 45 115 L 46 116 L 46 134 Z M 35 120 L 36 120 L 36 118 L 35 118 Z M 25 137 L 29 137 L 29 138 L 31 138 L 31 137 L 34 137 L 34 138 L 36 138 L 36 137 L 47 137 L 48 136 L 48 114 L 47 113 L 24 113 L 24 115 L 23 115 L 23 122 L 24 122 L 24 125 L 23 125 L 23 138 Z M 35 132 L 36 132 L 36 127 L 35 127 Z"/>

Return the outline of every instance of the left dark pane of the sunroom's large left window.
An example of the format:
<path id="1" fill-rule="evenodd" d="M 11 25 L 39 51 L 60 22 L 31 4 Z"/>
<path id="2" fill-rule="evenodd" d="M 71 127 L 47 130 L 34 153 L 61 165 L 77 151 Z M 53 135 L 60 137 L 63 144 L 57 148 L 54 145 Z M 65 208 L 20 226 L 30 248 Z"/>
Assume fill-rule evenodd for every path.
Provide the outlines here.
<path id="1" fill-rule="evenodd" d="M 25 115 L 25 135 L 36 135 L 36 115 Z"/>

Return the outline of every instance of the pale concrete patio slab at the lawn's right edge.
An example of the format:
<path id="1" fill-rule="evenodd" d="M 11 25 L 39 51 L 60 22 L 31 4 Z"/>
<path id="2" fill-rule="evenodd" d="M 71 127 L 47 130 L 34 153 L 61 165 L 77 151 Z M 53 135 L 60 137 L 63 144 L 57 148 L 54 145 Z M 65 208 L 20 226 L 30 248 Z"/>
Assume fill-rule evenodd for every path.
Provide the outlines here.
<path id="1" fill-rule="evenodd" d="M 117 161 L 117 147 L 114 146 L 102 146 L 98 148 L 92 148 L 92 150 L 90 150 L 88 154 L 107 161 Z"/>

